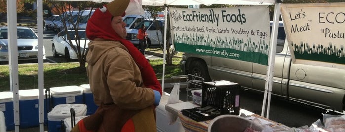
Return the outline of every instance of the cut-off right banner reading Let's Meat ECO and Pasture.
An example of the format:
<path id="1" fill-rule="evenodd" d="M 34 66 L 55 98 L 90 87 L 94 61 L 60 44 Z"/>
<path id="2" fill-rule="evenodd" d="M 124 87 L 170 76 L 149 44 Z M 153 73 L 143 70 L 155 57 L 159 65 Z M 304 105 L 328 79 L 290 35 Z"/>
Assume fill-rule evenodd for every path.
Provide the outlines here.
<path id="1" fill-rule="evenodd" d="M 282 4 L 294 63 L 345 68 L 345 3 Z"/>

